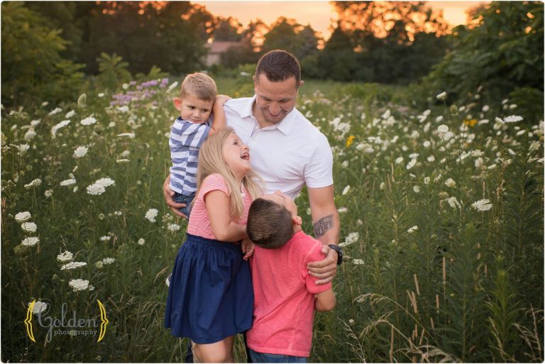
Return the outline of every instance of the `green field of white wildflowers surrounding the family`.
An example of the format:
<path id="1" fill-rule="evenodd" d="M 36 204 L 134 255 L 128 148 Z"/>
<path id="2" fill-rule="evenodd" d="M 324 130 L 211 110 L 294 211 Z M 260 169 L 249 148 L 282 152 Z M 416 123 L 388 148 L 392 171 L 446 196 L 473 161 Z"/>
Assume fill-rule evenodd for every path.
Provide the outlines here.
<path id="1" fill-rule="evenodd" d="M 187 341 L 163 328 L 187 226 L 161 189 L 175 81 L 1 111 L 3 361 L 183 360 Z M 246 74 L 218 84 L 253 91 Z M 434 93 L 415 106 L 383 93 L 308 82 L 299 94 L 334 150 L 345 251 L 310 361 L 542 362 L 543 121 L 508 99 L 451 105 Z M 296 202 L 310 233 L 305 191 Z M 101 341 L 62 327 L 72 316 L 100 322 L 97 300 Z M 241 338 L 236 360 L 246 360 Z"/>

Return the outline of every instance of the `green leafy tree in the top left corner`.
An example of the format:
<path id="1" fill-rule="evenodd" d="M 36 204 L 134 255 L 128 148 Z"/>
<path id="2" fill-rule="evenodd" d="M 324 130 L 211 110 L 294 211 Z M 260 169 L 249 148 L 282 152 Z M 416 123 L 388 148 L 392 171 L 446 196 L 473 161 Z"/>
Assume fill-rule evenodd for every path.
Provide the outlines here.
<path id="1" fill-rule="evenodd" d="M 82 86 L 82 65 L 61 56 L 69 44 L 61 31 L 21 2 L 1 6 L 2 104 L 73 97 Z"/>

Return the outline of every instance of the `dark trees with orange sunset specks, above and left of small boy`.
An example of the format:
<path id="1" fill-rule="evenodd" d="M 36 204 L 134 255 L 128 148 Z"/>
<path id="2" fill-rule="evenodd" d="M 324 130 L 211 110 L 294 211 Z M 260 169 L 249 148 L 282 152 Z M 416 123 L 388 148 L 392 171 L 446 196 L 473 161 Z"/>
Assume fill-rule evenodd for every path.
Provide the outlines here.
<path id="1" fill-rule="evenodd" d="M 104 52 L 123 57 L 132 73 L 148 72 L 153 65 L 184 73 L 202 65 L 213 18 L 186 1 L 114 1 L 93 7 L 88 27 L 88 38 L 82 42 L 88 72 L 97 72 L 94 60 Z"/>

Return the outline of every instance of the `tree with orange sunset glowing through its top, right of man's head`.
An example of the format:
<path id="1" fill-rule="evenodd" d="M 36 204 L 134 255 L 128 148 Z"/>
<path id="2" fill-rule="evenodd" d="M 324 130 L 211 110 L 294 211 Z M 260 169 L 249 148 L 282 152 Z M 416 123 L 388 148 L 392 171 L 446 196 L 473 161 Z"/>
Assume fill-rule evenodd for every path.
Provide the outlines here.
<path id="1" fill-rule="evenodd" d="M 334 1 L 340 19 L 319 64 L 338 81 L 411 82 L 446 51 L 447 23 L 422 1 Z"/>

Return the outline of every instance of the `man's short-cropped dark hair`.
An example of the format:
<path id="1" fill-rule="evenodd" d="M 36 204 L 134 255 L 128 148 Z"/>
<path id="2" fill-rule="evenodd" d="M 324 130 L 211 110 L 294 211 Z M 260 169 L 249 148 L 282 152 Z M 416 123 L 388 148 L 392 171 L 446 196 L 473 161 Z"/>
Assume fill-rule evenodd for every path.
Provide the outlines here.
<path id="1" fill-rule="evenodd" d="M 258 67 L 255 68 L 255 79 L 258 80 L 262 73 L 272 82 L 285 81 L 290 77 L 295 77 L 296 87 L 299 87 L 301 80 L 299 61 L 285 50 L 271 50 L 263 55 L 258 61 Z"/>

